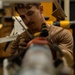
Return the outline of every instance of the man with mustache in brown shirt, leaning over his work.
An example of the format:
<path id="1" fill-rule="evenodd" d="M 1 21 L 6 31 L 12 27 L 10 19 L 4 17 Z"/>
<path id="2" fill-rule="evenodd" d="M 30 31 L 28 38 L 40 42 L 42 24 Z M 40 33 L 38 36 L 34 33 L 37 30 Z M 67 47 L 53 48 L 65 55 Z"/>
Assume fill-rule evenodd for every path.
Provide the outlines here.
<path id="1" fill-rule="evenodd" d="M 50 43 L 56 43 L 59 48 L 70 55 L 73 55 L 73 37 L 70 31 L 49 25 L 43 15 L 43 6 L 41 3 L 16 3 L 15 10 L 20 15 L 21 19 L 28 27 L 31 35 L 40 32 L 42 24 L 45 23 L 49 32 L 48 38 Z M 22 50 L 25 50 L 27 43 L 31 40 L 26 31 L 21 33 L 15 41 L 11 43 L 11 54 L 15 55 Z M 67 57 L 67 55 L 65 54 Z"/>

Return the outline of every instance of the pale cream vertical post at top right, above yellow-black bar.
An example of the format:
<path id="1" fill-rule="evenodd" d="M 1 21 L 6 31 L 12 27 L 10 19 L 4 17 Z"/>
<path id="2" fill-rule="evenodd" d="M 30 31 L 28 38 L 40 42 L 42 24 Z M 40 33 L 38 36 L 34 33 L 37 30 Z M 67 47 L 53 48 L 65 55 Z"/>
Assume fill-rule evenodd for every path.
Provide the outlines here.
<path id="1" fill-rule="evenodd" d="M 70 20 L 70 0 L 64 0 L 64 12 L 66 14 L 66 20 Z"/>

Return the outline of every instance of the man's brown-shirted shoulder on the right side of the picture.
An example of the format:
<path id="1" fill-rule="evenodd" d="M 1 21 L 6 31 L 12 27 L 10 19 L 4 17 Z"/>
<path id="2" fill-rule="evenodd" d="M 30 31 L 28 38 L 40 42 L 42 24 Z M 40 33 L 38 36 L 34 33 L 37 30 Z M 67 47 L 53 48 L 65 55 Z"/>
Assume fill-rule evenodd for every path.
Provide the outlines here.
<path id="1" fill-rule="evenodd" d="M 69 30 L 53 25 L 50 29 L 52 30 L 50 30 L 51 32 L 49 32 L 49 36 L 51 37 L 50 39 L 52 39 L 53 42 L 61 45 L 62 47 L 64 45 L 69 49 L 73 49 L 73 36 Z"/>

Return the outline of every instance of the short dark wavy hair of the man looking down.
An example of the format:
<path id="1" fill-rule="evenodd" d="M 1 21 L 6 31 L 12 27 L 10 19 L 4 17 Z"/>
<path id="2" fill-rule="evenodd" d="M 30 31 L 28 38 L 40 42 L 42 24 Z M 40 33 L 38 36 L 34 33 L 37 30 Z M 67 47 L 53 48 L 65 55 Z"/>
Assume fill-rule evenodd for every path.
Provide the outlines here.
<path id="1" fill-rule="evenodd" d="M 41 3 L 15 3 L 14 8 L 18 12 L 18 9 L 25 8 L 30 9 L 32 6 L 36 6 L 37 8 L 41 5 Z"/>

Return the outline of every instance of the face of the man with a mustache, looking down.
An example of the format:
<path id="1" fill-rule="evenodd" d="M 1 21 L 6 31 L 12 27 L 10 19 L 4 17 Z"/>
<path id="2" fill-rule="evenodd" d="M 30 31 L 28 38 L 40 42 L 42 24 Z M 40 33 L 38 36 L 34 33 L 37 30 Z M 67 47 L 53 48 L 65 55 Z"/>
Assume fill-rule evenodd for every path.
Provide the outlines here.
<path id="1" fill-rule="evenodd" d="M 32 6 L 30 9 L 23 8 L 18 10 L 20 17 L 31 30 L 39 29 L 41 26 L 43 22 L 42 12 L 42 6 L 39 6 L 39 8 Z"/>

